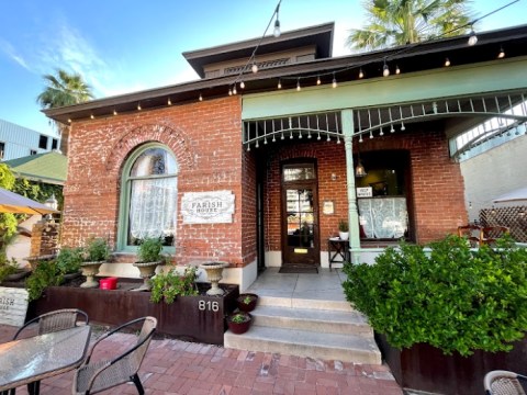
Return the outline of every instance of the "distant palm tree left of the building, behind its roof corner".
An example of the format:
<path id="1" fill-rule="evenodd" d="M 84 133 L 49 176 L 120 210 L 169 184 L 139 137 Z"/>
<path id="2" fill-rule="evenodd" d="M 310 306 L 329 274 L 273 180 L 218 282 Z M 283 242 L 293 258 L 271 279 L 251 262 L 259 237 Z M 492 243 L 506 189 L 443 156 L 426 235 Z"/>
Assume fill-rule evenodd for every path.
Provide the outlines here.
<path id="1" fill-rule="evenodd" d="M 36 102 L 43 109 L 72 105 L 93 99 L 91 87 L 77 72 L 68 74 L 65 70 L 57 69 L 56 76 L 45 75 L 44 80 L 46 81 L 46 88 L 36 98 Z M 69 128 L 60 123 L 56 123 L 56 126 L 61 135 L 60 150 L 64 155 L 67 155 Z"/>

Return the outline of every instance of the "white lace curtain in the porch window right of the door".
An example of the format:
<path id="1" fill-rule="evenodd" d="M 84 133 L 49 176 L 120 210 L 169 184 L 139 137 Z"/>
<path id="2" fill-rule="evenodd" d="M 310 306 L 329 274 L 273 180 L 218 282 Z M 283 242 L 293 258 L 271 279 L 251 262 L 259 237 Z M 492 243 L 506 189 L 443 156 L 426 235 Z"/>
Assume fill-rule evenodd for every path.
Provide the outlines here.
<path id="1" fill-rule="evenodd" d="M 408 228 L 406 198 L 359 199 L 360 225 L 367 238 L 401 238 Z"/>

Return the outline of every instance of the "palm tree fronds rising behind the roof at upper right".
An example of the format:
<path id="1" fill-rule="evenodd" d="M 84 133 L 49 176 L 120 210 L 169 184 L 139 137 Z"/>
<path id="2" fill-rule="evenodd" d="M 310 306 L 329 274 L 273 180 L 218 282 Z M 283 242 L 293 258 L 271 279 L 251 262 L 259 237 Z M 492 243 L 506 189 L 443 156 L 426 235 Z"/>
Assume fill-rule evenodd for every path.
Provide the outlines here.
<path id="1" fill-rule="evenodd" d="M 351 49 L 378 49 L 468 33 L 468 2 L 369 0 L 363 7 L 370 23 L 363 29 L 352 29 L 347 44 Z"/>

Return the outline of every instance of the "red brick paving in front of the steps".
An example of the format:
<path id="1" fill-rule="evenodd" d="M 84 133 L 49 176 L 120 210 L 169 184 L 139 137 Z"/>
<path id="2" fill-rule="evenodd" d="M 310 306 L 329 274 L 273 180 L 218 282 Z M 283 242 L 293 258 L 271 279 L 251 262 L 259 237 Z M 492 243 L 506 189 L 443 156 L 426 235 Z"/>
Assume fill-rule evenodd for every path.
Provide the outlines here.
<path id="1" fill-rule="evenodd" d="M 9 341 L 14 330 L 0 326 L 0 342 Z M 131 337 L 127 334 L 112 336 L 112 341 L 104 341 L 103 352 L 119 353 Z M 96 353 L 93 359 L 101 357 L 102 352 Z M 403 394 L 385 365 L 229 350 L 175 339 L 152 341 L 139 376 L 146 394 L 152 395 Z M 46 379 L 41 384 L 41 394 L 70 394 L 72 372 Z M 19 387 L 16 393 L 27 392 Z M 137 391 L 134 385 L 124 384 L 103 394 L 137 394 Z"/>

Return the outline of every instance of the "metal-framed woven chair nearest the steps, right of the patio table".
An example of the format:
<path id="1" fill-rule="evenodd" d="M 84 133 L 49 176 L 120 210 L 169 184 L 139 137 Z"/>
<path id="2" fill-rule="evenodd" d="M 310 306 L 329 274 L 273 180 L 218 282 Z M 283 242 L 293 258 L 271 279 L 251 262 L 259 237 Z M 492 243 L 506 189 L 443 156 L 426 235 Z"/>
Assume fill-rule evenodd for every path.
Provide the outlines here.
<path id="1" fill-rule="evenodd" d="M 101 341 L 122 329 L 134 328 L 142 321 L 143 327 L 137 336 L 137 341 L 131 345 L 126 351 L 120 356 L 115 356 L 115 358 L 111 360 L 91 361 L 93 350 Z M 145 390 L 143 388 L 137 372 L 148 349 L 152 337 L 154 336 L 156 326 L 156 318 L 143 317 L 123 324 L 102 335 L 91 347 L 85 363 L 77 370 L 74 379 L 72 393 L 86 395 L 96 394 L 120 384 L 133 382 L 137 387 L 139 395 L 143 395 Z"/>

